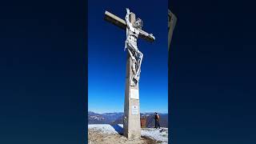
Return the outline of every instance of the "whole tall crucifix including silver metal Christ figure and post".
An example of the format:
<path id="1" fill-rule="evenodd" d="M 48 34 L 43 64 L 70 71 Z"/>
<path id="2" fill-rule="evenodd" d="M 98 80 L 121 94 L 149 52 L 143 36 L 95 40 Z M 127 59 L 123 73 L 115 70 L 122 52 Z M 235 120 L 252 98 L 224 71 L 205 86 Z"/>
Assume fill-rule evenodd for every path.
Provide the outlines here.
<path id="1" fill-rule="evenodd" d="M 123 119 L 123 134 L 126 138 L 141 137 L 141 122 L 139 110 L 139 92 L 138 81 L 141 73 L 141 64 L 143 54 L 138 50 L 138 38 L 145 39 L 148 42 L 154 42 L 153 34 L 148 34 L 142 30 L 143 22 L 136 18 L 135 14 L 126 8 L 126 18 L 118 18 L 110 12 L 105 12 L 107 22 L 126 30 L 125 50 L 127 53 L 126 61 L 126 92 Z"/>

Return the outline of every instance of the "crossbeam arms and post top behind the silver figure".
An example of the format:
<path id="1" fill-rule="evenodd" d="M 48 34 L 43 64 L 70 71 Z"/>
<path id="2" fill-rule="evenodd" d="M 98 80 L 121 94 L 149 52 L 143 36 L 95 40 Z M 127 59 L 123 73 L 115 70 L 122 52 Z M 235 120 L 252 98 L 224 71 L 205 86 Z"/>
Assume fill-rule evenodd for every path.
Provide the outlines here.
<path id="1" fill-rule="evenodd" d="M 130 22 L 134 22 L 136 20 L 135 14 L 132 13 L 130 15 L 131 15 Z M 122 30 L 126 30 L 126 26 L 127 26 L 126 21 L 123 20 L 122 18 L 119 18 L 118 16 L 111 14 L 108 11 L 105 11 L 104 19 L 107 22 L 110 22 L 110 23 L 114 24 L 115 26 L 120 27 Z M 139 30 L 139 32 L 140 32 L 140 34 L 139 34 L 138 38 L 145 39 L 148 42 L 154 42 L 155 38 L 153 35 L 146 33 L 146 31 L 144 31 L 144 30 Z"/>

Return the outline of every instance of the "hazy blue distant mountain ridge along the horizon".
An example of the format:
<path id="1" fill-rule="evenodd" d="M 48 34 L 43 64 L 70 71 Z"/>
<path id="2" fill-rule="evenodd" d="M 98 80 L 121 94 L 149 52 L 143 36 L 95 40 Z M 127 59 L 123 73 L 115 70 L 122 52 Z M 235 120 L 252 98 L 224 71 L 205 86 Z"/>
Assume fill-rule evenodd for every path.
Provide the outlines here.
<path id="1" fill-rule="evenodd" d="M 168 127 L 168 114 L 160 115 L 160 125 Z M 141 113 L 141 118 L 146 118 L 146 127 L 154 127 L 154 113 Z M 88 124 L 122 124 L 123 113 L 103 113 L 98 114 L 92 111 L 88 112 Z"/>

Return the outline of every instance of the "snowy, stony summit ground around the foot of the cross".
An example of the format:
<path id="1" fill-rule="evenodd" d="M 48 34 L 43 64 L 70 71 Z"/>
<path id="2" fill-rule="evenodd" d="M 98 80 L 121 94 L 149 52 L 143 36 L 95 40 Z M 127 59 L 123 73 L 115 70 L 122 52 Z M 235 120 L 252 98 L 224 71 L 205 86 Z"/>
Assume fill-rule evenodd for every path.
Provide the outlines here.
<path id="1" fill-rule="evenodd" d="M 88 143 L 90 144 L 154 144 L 168 143 L 168 129 L 143 128 L 142 138 L 127 139 L 122 135 L 122 125 L 88 125 Z"/>

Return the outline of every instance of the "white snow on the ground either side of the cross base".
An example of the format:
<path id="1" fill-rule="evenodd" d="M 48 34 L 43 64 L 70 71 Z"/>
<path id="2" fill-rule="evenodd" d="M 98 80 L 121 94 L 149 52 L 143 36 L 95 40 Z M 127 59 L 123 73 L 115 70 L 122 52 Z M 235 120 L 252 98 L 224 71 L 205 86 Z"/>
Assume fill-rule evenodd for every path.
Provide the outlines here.
<path id="1" fill-rule="evenodd" d="M 109 124 L 88 125 L 88 129 L 98 130 L 104 134 L 122 134 L 122 127 L 122 124 L 118 124 L 115 126 L 110 126 Z M 152 138 L 162 143 L 168 143 L 168 128 L 142 128 L 142 136 Z"/>

